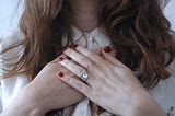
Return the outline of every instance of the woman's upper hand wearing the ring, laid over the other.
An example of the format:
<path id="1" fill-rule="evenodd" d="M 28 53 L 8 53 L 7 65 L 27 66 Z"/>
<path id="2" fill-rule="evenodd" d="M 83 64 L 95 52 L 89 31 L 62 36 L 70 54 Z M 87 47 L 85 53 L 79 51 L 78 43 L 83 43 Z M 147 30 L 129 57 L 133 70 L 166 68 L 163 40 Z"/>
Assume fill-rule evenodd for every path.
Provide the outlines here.
<path id="1" fill-rule="evenodd" d="M 91 101 L 106 111 L 122 116 L 163 116 L 156 102 L 142 88 L 132 71 L 105 51 L 94 54 L 81 46 L 77 51 L 68 48 L 60 63 L 77 77 L 88 71 L 86 83 L 70 77 L 61 70 L 58 77 L 82 92 Z"/>

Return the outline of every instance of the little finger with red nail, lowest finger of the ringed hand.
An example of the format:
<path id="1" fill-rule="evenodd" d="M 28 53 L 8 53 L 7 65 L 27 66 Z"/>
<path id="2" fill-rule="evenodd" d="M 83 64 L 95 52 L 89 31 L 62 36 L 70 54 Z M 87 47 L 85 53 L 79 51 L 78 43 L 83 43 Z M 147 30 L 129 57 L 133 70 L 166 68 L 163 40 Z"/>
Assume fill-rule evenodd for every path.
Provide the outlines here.
<path id="1" fill-rule="evenodd" d="M 69 77 L 69 74 L 65 72 L 58 72 L 58 78 L 61 79 L 68 85 L 74 88 L 75 90 L 80 91 L 86 96 L 92 90 L 91 86 L 89 86 L 88 84 L 83 83 L 82 81 L 78 79 Z"/>

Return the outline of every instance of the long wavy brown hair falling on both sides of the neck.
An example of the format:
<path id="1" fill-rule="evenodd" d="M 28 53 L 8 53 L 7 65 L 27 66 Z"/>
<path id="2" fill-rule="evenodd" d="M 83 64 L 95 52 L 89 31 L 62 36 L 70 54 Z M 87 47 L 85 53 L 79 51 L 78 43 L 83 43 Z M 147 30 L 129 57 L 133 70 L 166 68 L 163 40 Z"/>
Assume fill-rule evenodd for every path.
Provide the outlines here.
<path id="1" fill-rule="evenodd" d="M 68 37 L 67 45 L 71 44 L 70 18 L 69 0 L 26 0 L 20 21 L 25 39 L 13 46 L 24 46 L 24 53 L 5 77 L 26 73 L 33 80 L 61 54 L 62 36 Z M 117 58 L 138 72 L 143 86 L 153 88 L 168 78 L 165 68 L 175 57 L 175 42 L 159 0 L 103 0 L 98 20 L 113 46 L 121 53 Z"/>

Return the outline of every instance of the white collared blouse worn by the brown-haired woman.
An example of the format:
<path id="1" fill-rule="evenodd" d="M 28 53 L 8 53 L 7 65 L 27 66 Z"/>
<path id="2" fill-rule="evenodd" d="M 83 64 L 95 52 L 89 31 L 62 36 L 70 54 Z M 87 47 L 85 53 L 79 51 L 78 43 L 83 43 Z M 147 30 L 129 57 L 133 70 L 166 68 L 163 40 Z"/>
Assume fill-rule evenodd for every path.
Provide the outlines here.
<path id="1" fill-rule="evenodd" d="M 100 27 L 93 30 L 91 33 L 82 33 L 80 30 L 73 26 L 73 32 L 74 43 L 86 46 L 89 49 L 95 49 L 110 45 L 108 36 Z M 21 40 L 22 38 L 23 34 L 21 34 L 20 31 L 10 33 L 4 37 L 4 39 L 2 39 L 0 47 L 1 49 L 4 49 L 7 46 Z M 65 44 L 65 42 L 62 44 Z M 23 53 L 23 48 L 21 48 L 22 47 L 20 46 L 19 48 L 7 53 L 2 57 L 10 58 L 12 55 L 21 55 Z M 5 66 L 1 65 L 1 67 L 4 68 Z M 159 84 L 150 91 L 150 93 L 158 101 L 167 116 L 175 116 L 175 61 L 171 65 L 171 68 L 174 68 L 174 71 L 172 70 L 173 73 L 171 74 L 171 78 L 160 81 Z M 3 73 L 2 70 L 1 73 Z M 27 77 L 23 74 L 0 81 L 0 112 L 10 105 L 13 98 L 27 83 Z M 91 116 L 88 98 L 78 104 L 73 116 Z M 110 116 L 110 114 L 104 113 L 101 116 Z"/>

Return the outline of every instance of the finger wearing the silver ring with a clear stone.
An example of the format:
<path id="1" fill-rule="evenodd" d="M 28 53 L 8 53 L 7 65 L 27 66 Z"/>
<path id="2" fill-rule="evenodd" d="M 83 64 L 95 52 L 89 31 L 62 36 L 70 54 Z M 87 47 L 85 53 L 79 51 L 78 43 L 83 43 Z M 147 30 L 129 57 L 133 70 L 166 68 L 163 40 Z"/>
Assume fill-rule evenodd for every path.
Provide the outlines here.
<path id="1" fill-rule="evenodd" d="M 82 77 L 83 72 L 86 72 L 86 70 L 84 68 L 82 68 L 78 63 L 73 62 L 72 60 L 63 59 L 62 61 L 59 61 L 59 63 L 62 65 L 68 70 L 70 70 L 72 73 L 74 73 L 79 78 Z M 90 73 L 89 73 L 89 79 L 88 79 L 86 83 L 92 85 L 93 82 L 94 82 L 94 79 L 93 79 L 92 74 L 90 77 Z"/>

